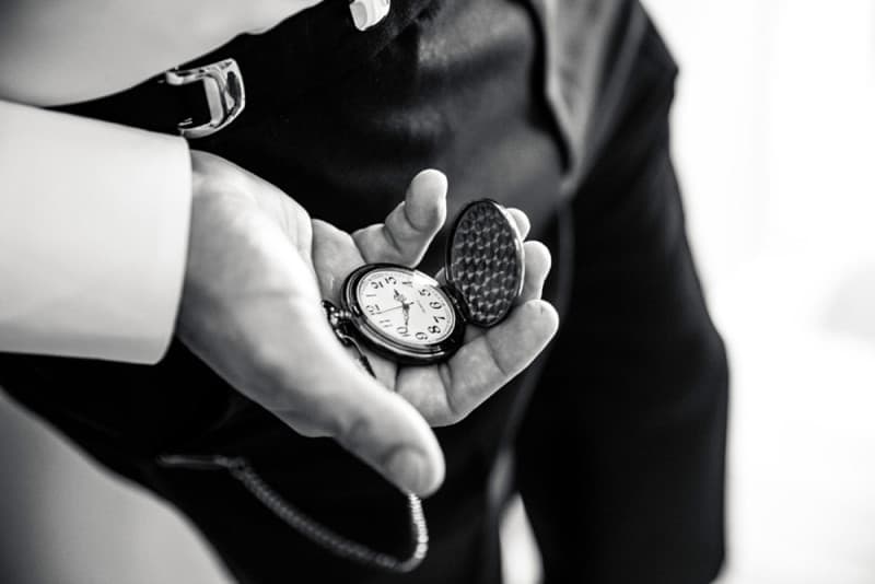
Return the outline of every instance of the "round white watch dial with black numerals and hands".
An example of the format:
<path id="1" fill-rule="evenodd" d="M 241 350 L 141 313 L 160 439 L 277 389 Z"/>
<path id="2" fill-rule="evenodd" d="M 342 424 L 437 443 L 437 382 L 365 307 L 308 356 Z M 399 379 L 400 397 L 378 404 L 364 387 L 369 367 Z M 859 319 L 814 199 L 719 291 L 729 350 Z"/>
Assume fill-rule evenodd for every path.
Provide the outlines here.
<path id="1" fill-rule="evenodd" d="M 371 327 L 402 344 L 427 347 L 446 340 L 456 313 L 434 280 L 412 270 L 380 268 L 359 280 L 355 296 Z"/>

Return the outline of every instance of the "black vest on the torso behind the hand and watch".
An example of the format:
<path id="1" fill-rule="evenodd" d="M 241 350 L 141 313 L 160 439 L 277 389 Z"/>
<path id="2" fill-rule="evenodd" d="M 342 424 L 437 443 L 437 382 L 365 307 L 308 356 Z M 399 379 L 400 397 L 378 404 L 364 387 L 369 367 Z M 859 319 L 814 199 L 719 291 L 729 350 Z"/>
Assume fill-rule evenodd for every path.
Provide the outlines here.
<path id="1" fill-rule="evenodd" d="M 534 238 L 555 238 L 563 199 L 609 125 L 599 96 L 625 83 L 623 71 L 602 74 L 604 56 L 634 50 L 639 21 L 638 4 L 611 0 L 394 0 L 387 20 L 361 33 L 346 0 L 326 0 L 198 60 L 235 58 L 248 104 L 191 147 L 276 184 L 340 229 L 381 221 L 410 177 L 438 167 L 450 177 L 451 217 L 490 197 L 525 210 Z M 185 108 L 149 81 L 63 109 L 175 131 Z M 177 504 L 242 580 L 290 582 L 311 570 L 324 582 L 384 576 L 313 548 L 229 477 L 165 470 L 158 455 L 245 455 L 337 530 L 398 553 L 409 545 L 398 493 L 334 442 L 296 435 L 182 344 L 151 367 L 0 355 L 0 385 L 104 464 Z M 518 395 L 517 384 L 439 430 L 447 481 L 425 503 L 432 552 L 412 581 L 495 574 L 488 477 Z"/>

